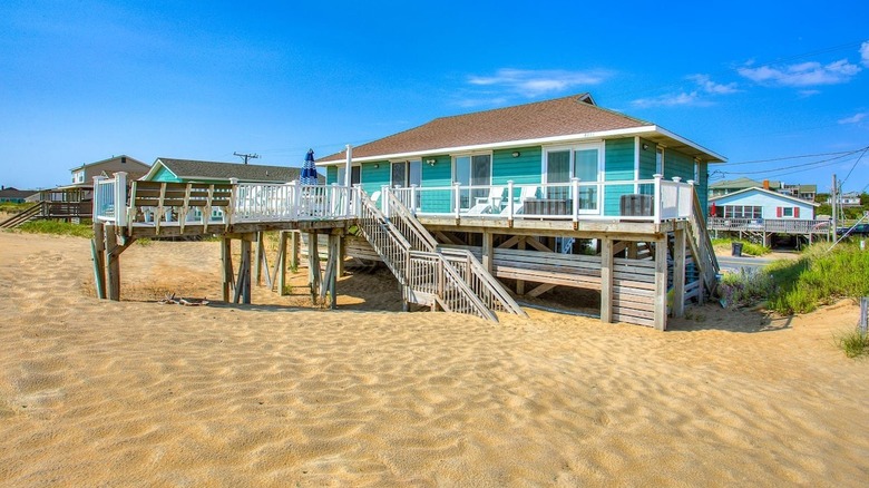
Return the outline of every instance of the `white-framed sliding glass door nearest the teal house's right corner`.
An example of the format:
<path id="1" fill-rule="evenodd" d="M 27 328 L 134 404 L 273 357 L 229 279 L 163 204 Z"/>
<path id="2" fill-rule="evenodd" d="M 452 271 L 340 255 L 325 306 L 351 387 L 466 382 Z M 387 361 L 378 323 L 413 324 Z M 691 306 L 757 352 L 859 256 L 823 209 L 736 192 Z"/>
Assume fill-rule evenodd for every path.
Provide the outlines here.
<path id="1" fill-rule="evenodd" d="M 546 198 L 569 199 L 570 179 L 579 178 L 579 211 L 593 213 L 601 208 L 597 186 L 582 185 L 599 182 L 604 173 L 602 143 L 554 146 L 544 150 L 543 176 Z"/>

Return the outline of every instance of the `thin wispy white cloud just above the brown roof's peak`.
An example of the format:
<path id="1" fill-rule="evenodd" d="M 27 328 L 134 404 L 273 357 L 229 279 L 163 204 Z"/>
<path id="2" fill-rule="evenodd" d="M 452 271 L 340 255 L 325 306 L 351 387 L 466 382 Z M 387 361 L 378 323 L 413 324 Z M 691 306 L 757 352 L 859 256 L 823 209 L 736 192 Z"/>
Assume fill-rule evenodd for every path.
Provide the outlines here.
<path id="1" fill-rule="evenodd" d="M 471 76 L 468 82 L 477 86 L 502 87 L 531 98 L 549 92 L 564 91 L 575 87 L 599 85 L 612 74 L 606 70 L 523 70 L 501 68 L 494 76 Z"/>

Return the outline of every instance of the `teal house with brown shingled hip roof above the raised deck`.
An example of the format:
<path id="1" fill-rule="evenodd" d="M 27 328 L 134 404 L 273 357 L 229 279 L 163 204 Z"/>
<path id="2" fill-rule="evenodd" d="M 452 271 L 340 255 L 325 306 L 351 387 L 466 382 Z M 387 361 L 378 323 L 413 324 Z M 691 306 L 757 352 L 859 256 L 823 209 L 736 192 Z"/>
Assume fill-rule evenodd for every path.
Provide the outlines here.
<path id="1" fill-rule="evenodd" d="M 588 212 L 584 211 L 618 215 L 619 197 L 648 193 L 635 182 L 651 180 L 654 174 L 694 180 L 705 208 L 707 165 L 723 162 L 655 124 L 601 108 L 585 94 L 441 117 L 354 147 L 351 183 L 372 194 L 383 185 L 631 182 L 589 195 Z M 320 158 L 318 165 L 325 166 L 328 183 L 343 184 L 344 153 Z M 479 195 L 463 196 L 462 208 L 475 199 Z"/>

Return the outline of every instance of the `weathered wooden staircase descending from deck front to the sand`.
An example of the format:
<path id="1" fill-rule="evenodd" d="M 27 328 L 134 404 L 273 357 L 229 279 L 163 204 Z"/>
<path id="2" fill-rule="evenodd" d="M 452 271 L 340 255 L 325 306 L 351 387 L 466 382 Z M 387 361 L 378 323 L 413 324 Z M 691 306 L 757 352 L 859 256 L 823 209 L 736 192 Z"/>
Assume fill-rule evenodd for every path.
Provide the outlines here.
<path id="1" fill-rule="evenodd" d="M 495 311 L 527 316 L 479 261 L 466 251 L 440 250 L 434 237 L 390 192 L 387 217 L 362 194 L 360 228 L 399 281 L 406 302 L 497 321 Z"/>

